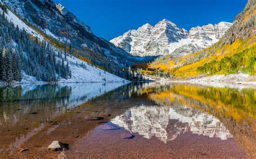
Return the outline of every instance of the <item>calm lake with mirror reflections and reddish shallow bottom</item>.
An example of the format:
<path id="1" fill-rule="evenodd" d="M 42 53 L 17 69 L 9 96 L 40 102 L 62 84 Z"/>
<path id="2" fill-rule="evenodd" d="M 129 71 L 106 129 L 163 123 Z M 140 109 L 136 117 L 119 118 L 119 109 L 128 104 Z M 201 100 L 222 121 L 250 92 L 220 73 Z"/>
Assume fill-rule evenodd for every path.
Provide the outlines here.
<path id="1" fill-rule="evenodd" d="M 186 83 L 1 86 L 0 158 L 256 158 L 255 99 Z M 55 140 L 70 150 L 47 150 Z"/>

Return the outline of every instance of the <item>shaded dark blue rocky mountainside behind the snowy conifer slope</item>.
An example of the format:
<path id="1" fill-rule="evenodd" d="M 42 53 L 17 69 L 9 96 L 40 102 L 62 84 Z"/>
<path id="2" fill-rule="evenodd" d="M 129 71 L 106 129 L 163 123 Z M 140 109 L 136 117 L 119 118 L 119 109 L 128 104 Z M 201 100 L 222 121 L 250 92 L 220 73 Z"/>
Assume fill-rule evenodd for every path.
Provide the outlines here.
<path id="1" fill-rule="evenodd" d="M 129 67 L 135 62 L 148 59 L 134 57 L 109 41 L 97 37 L 91 28 L 76 18 L 65 6 L 51 0 L 0 0 L 12 12 L 35 28 L 43 37 L 57 47 L 80 59 L 113 70 Z M 114 71 L 117 72 L 117 71 Z"/>

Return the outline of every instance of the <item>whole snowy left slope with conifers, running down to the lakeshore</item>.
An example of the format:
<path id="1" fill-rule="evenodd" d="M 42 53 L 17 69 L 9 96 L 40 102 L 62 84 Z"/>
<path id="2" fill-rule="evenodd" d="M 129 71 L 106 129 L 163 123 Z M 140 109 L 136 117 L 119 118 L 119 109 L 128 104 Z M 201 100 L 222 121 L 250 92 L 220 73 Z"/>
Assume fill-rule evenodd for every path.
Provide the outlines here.
<path id="1" fill-rule="evenodd" d="M 69 52 L 71 45 L 48 39 L 7 5 L 0 5 L 0 13 L 0 84 L 125 81 L 93 63 L 79 60 Z M 124 76 L 122 71 L 116 73 Z"/>

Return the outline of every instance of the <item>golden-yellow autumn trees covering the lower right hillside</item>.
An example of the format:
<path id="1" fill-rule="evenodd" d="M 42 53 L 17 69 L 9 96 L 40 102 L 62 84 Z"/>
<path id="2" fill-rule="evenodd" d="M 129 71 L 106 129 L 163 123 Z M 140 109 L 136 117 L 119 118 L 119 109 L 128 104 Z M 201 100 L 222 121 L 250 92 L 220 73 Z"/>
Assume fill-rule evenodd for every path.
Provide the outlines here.
<path id="1" fill-rule="evenodd" d="M 240 63 L 241 68 L 247 68 L 247 67 L 254 67 L 254 70 L 252 69 L 243 69 L 246 73 L 249 73 L 251 75 L 254 75 L 255 71 L 255 62 L 250 63 L 250 61 L 254 60 L 255 57 L 255 50 L 256 50 L 256 36 L 252 38 L 248 38 L 245 41 L 242 41 L 241 39 L 237 39 L 233 44 L 227 44 L 223 45 L 221 47 L 218 47 L 219 43 L 215 44 L 215 46 L 209 47 L 205 50 L 202 50 L 198 53 L 186 55 L 183 57 L 180 57 L 179 59 L 174 59 L 170 61 L 158 61 L 158 62 L 152 62 L 151 68 L 155 69 L 161 69 L 163 71 L 168 71 L 169 73 L 172 73 L 172 75 L 178 77 L 178 78 L 185 78 L 185 77 L 193 77 L 198 75 L 207 74 L 208 72 L 202 72 L 198 68 L 204 66 L 207 63 L 212 62 L 211 69 L 218 70 L 213 71 L 209 75 L 214 74 L 230 74 L 231 71 L 228 70 L 222 70 L 220 67 L 220 61 L 223 62 L 225 57 L 232 57 L 235 54 L 241 54 L 246 50 L 246 53 L 242 54 L 242 57 L 244 57 L 243 63 Z M 215 48 L 215 50 L 214 50 Z M 200 59 L 199 56 L 201 53 L 206 53 L 207 56 L 205 58 Z M 197 60 L 200 59 L 200 60 Z M 225 65 L 232 68 L 231 64 L 233 64 L 234 58 L 228 59 L 227 62 L 225 62 Z M 188 62 L 192 61 L 192 62 Z M 194 62 L 193 62 L 194 61 Z M 186 64 L 188 63 L 188 64 Z M 215 68 L 215 69 L 214 69 Z M 238 68 L 240 69 L 240 68 Z"/>

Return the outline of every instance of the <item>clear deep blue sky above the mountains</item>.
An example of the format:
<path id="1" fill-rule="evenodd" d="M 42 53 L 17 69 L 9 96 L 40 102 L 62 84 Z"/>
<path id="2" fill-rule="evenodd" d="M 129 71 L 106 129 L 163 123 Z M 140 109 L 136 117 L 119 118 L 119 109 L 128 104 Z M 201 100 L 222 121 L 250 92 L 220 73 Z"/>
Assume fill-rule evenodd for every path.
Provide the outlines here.
<path id="1" fill-rule="evenodd" d="M 247 0 L 53 0 L 106 40 L 143 24 L 168 19 L 190 30 L 193 26 L 232 22 Z"/>

